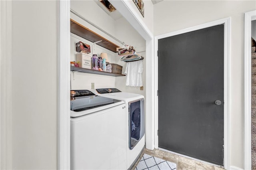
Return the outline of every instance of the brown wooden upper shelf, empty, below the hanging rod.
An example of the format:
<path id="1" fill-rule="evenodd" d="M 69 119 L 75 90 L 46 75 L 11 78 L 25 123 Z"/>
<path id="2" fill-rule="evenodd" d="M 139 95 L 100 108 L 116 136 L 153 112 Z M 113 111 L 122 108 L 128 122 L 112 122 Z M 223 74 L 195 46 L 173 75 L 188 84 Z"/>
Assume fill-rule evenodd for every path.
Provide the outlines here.
<path id="1" fill-rule="evenodd" d="M 110 51 L 113 51 L 114 53 L 116 53 L 116 48 L 119 47 L 118 45 L 108 41 L 106 38 L 82 26 L 81 24 L 72 19 L 70 19 L 70 32 L 90 42 L 97 42 L 102 40 L 102 42 L 98 42 L 97 44 L 106 49 L 109 49 Z"/>

